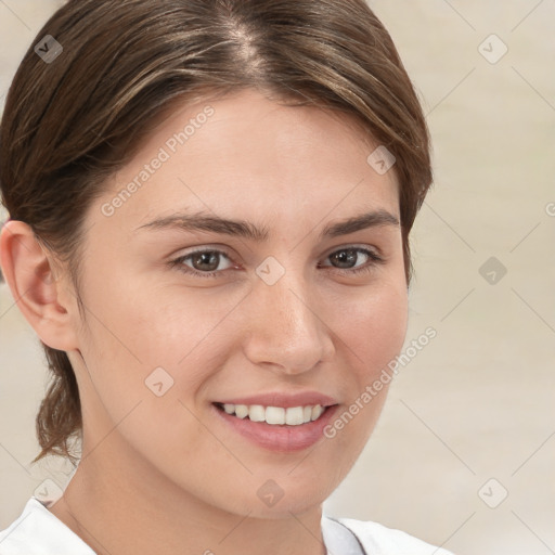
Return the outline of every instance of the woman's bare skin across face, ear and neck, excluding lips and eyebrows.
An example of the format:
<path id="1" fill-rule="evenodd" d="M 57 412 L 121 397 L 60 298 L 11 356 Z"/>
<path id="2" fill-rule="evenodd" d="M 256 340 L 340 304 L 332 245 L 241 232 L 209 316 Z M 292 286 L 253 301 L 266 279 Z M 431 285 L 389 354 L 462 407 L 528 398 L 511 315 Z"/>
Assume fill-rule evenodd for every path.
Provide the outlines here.
<path id="1" fill-rule="evenodd" d="M 68 352 L 81 398 L 83 456 L 49 509 L 99 554 L 324 554 L 322 503 L 361 453 L 387 386 L 335 438 L 294 453 L 230 431 L 211 402 L 315 390 L 340 414 L 399 353 L 408 323 L 399 225 L 319 237 L 367 210 L 399 218 L 395 168 L 378 175 L 366 163 L 375 145 L 350 116 L 247 90 L 210 102 L 208 121 L 104 216 L 103 204 L 206 104 L 163 121 L 89 208 L 85 319 L 67 272 L 29 228 L 3 229 L 11 291 L 38 336 Z M 199 210 L 263 227 L 268 240 L 138 230 Z M 351 267 L 369 271 L 357 275 L 330 258 L 353 246 L 385 262 L 359 254 Z M 216 278 L 185 273 L 191 259 L 171 266 L 198 247 L 228 255 Z M 269 256 L 285 270 L 273 285 L 256 273 Z M 159 366 L 173 379 L 162 397 L 145 387 Z M 272 507 L 257 495 L 269 479 L 284 492 Z"/>

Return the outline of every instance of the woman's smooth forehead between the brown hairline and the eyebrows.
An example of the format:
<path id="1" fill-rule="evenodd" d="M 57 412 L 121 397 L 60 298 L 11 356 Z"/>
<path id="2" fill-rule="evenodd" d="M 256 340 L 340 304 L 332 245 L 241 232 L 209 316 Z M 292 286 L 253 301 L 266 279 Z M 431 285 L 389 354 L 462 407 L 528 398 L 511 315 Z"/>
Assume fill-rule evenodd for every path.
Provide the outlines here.
<path id="1" fill-rule="evenodd" d="M 376 146 L 351 115 L 246 90 L 176 106 L 102 202 L 116 199 L 111 220 L 124 227 L 185 206 L 245 218 L 280 211 L 282 223 L 361 205 L 398 215 L 395 168 L 379 173 L 369 163 Z"/>

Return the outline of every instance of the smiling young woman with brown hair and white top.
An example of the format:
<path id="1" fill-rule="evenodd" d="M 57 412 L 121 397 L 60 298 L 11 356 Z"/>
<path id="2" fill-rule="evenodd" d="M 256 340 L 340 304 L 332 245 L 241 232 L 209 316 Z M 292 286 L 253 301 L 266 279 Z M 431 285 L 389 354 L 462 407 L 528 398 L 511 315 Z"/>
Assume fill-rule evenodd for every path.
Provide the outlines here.
<path id="1" fill-rule="evenodd" d="M 447 553 L 322 515 L 403 345 L 431 182 L 363 0 L 69 1 L 0 171 L 2 268 L 53 374 L 35 461 L 78 460 L 2 553 Z"/>

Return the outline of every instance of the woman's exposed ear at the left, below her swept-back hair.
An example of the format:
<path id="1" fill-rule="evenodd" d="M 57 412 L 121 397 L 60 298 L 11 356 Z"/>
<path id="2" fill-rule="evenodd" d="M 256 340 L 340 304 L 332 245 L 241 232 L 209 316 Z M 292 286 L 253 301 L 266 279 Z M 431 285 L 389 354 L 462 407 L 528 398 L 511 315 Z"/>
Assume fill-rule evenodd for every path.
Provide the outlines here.
<path id="1" fill-rule="evenodd" d="M 62 280 L 56 281 L 51 258 L 28 224 L 10 220 L 3 225 L 0 264 L 20 310 L 40 339 L 53 349 L 77 349 L 75 296 Z"/>

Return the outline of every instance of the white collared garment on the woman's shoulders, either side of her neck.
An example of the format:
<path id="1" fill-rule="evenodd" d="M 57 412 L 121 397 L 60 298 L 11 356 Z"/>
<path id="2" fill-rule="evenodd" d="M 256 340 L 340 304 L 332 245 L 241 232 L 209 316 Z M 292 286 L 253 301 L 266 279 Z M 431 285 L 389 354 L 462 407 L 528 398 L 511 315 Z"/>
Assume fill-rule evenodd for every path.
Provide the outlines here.
<path id="1" fill-rule="evenodd" d="M 322 515 L 330 555 L 452 555 L 376 522 Z M 364 548 L 362 551 L 361 546 Z M 95 555 L 76 533 L 31 496 L 23 513 L 0 531 L 0 555 Z"/>

